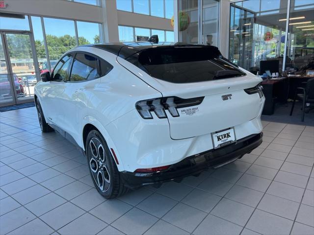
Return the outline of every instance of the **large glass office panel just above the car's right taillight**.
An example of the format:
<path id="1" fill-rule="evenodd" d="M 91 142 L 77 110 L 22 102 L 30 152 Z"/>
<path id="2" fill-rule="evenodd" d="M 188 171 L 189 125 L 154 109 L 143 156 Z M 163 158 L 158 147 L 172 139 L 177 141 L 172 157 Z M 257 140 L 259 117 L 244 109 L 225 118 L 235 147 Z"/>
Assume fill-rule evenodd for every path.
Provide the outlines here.
<path id="1" fill-rule="evenodd" d="M 265 60 L 278 60 L 282 68 L 287 7 L 287 0 L 232 3 L 229 59 L 252 72 L 258 71 Z"/>

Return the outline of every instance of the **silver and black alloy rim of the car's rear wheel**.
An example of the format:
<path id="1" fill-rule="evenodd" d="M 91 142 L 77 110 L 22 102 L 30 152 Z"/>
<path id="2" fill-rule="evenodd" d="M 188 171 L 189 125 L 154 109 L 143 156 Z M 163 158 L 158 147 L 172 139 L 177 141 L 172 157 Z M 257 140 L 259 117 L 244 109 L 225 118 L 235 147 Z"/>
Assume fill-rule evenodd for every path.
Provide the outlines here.
<path id="1" fill-rule="evenodd" d="M 92 138 L 88 144 L 88 159 L 94 181 L 105 192 L 110 185 L 110 173 L 106 165 L 105 149 L 101 141 Z"/>

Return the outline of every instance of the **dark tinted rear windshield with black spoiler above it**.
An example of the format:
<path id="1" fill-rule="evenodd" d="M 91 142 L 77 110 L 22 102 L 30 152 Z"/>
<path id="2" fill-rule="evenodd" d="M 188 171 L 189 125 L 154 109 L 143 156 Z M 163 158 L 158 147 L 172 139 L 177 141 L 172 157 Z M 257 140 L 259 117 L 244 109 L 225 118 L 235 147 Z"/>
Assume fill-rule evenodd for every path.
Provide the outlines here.
<path id="1" fill-rule="evenodd" d="M 127 59 L 152 77 L 172 83 L 203 82 L 243 76 L 216 47 L 155 47 Z"/>

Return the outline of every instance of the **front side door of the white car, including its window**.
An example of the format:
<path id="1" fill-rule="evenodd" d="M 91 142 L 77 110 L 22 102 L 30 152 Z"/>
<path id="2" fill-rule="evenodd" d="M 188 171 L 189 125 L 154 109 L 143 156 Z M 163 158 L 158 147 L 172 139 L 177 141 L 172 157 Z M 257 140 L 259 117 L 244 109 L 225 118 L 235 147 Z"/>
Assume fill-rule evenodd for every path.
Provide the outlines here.
<path id="1" fill-rule="evenodd" d="M 46 121 L 59 127 L 63 123 L 64 109 L 62 103 L 65 99 L 65 81 L 69 79 L 71 61 L 72 54 L 67 54 L 59 60 L 52 72 L 51 81 L 45 83 L 45 89 L 42 91 L 42 106 L 47 119 Z"/>

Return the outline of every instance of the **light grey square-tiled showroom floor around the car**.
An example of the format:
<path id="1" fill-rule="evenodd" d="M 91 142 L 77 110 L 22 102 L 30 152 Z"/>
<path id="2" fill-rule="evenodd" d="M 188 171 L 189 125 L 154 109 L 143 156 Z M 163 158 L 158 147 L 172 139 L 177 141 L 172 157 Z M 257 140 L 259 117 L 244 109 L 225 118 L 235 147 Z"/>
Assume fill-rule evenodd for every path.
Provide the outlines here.
<path id="1" fill-rule="evenodd" d="M 262 145 L 233 164 L 105 200 L 35 108 L 0 118 L 1 235 L 314 234 L 313 126 L 263 122 Z"/>

